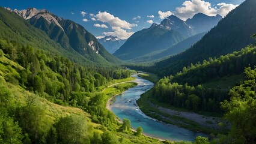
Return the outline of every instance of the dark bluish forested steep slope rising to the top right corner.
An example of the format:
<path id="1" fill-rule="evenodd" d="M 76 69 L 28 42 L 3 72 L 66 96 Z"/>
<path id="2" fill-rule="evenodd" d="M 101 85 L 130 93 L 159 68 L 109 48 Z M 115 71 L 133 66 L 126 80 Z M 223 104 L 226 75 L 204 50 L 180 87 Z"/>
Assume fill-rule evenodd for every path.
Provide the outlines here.
<path id="1" fill-rule="evenodd" d="M 246 0 L 224 17 L 193 47 L 177 56 L 157 62 L 151 69 L 161 76 L 175 74 L 191 63 L 225 55 L 253 44 L 251 35 L 256 32 L 255 17 L 256 1 Z"/>

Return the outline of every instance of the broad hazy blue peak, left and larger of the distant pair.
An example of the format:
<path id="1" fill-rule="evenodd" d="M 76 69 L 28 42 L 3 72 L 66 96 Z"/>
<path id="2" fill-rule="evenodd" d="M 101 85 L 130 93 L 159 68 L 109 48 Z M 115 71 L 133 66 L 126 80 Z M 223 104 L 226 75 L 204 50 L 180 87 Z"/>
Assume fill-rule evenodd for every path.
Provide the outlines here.
<path id="1" fill-rule="evenodd" d="M 123 60 L 135 59 L 167 49 L 194 34 L 193 29 L 178 17 L 169 16 L 159 25 L 153 23 L 150 28 L 135 32 L 113 55 Z"/>

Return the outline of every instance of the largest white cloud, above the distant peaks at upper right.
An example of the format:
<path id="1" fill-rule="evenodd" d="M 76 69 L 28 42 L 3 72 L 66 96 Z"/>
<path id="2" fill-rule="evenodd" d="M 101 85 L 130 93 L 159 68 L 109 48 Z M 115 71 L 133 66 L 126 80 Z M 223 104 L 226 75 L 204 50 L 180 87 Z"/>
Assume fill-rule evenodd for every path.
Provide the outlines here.
<path id="1" fill-rule="evenodd" d="M 222 2 L 212 7 L 210 2 L 203 0 L 184 1 L 182 5 L 182 7 L 177 7 L 174 12 L 175 16 L 182 20 L 192 18 L 197 13 L 204 13 L 208 16 L 216 16 L 216 14 L 219 14 L 222 17 L 225 17 L 228 12 L 238 6 Z"/>

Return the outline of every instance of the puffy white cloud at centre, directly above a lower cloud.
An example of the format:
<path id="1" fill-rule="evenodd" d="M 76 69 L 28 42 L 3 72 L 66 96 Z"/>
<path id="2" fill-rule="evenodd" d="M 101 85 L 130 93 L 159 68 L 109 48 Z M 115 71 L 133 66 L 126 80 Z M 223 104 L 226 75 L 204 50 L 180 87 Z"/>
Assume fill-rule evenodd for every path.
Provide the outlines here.
<path id="1" fill-rule="evenodd" d="M 132 27 L 136 26 L 135 24 L 131 24 L 129 22 L 126 22 L 125 20 L 121 20 L 118 17 L 114 17 L 112 14 L 105 12 L 100 12 L 96 14 L 95 16 L 97 20 L 100 22 L 106 22 L 110 26 L 120 27 L 124 29 L 132 29 Z"/>

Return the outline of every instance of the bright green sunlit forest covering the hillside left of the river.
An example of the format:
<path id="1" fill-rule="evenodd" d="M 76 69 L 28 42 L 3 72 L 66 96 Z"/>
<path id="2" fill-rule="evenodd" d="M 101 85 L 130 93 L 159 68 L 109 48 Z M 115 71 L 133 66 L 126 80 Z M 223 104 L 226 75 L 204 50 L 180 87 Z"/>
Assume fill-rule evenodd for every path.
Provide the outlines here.
<path id="1" fill-rule="evenodd" d="M 79 107 L 91 114 L 93 122 L 115 127 L 115 116 L 105 107 L 108 97 L 98 88 L 112 79 L 129 77 L 130 71 L 118 67 L 84 67 L 16 41 L 0 40 L 0 48 L 1 143 L 90 143 L 101 136 L 94 133 L 96 138 L 93 138 L 88 133 L 93 130 L 87 124 L 88 118 L 77 115 L 61 117 L 50 126 L 38 97 L 62 106 Z M 24 104 L 16 104 L 14 97 L 20 95 L 14 95 L 7 83 L 35 96 L 27 97 Z M 100 139 L 104 137 L 112 139 L 108 132 Z"/>

